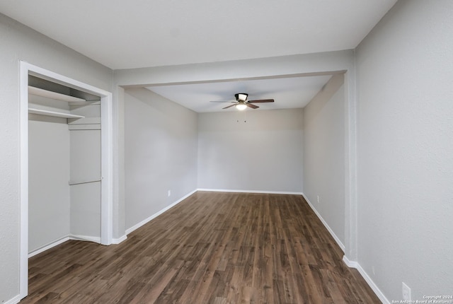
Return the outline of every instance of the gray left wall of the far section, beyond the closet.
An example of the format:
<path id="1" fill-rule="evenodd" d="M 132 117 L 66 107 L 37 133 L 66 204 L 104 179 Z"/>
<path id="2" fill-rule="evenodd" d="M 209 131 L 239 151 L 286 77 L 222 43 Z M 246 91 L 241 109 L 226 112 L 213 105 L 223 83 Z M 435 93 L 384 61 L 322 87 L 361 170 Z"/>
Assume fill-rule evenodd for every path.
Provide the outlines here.
<path id="1" fill-rule="evenodd" d="M 144 88 L 125 90 L 126 228 L 195 189 L 197 113 Z"/>

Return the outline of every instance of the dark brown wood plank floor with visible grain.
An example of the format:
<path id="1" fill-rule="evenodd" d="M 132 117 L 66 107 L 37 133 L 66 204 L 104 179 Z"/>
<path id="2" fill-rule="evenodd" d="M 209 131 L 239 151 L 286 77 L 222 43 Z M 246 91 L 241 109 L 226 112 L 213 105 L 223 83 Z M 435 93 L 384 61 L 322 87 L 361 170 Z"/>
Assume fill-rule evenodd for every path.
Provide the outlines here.
<path id="1" fill-rule="evenodd" d="M 380 303 L 303 197 L 197 192 L 120 245 L 30 259 L 21 303 Z"/>

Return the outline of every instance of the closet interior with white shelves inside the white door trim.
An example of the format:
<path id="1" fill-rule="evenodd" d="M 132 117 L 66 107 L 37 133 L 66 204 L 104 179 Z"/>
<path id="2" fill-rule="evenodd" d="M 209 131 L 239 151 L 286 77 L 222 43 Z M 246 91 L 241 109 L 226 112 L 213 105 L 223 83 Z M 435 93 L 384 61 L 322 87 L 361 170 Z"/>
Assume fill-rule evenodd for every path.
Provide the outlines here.
<path id="1" fill-rule="evenodd" d="M 101 242 L 101 98 L 28 76 L 28 253 Z"/>

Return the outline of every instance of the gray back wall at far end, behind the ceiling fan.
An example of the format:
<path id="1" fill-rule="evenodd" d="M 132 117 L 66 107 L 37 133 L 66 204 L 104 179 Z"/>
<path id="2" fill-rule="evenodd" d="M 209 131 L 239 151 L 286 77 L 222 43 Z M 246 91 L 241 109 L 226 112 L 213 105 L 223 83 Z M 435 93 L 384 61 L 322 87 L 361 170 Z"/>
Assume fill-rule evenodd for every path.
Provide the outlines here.
<path id="1" fill-rule="evenodd" d="M 302 109 L 199 114 L 198 187 L 302 192 L 302 119 Z"/>

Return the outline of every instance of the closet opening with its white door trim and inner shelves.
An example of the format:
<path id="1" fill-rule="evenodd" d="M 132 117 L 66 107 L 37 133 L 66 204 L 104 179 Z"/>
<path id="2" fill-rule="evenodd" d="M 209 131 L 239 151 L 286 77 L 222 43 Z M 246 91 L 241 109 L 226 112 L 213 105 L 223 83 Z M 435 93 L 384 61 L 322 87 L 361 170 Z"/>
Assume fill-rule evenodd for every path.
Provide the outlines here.
<path id="1" fill-rule="evenodd" d="M 112 94 L 21 62 L 21 298 L 28 258 L 113 242 Z"/>

